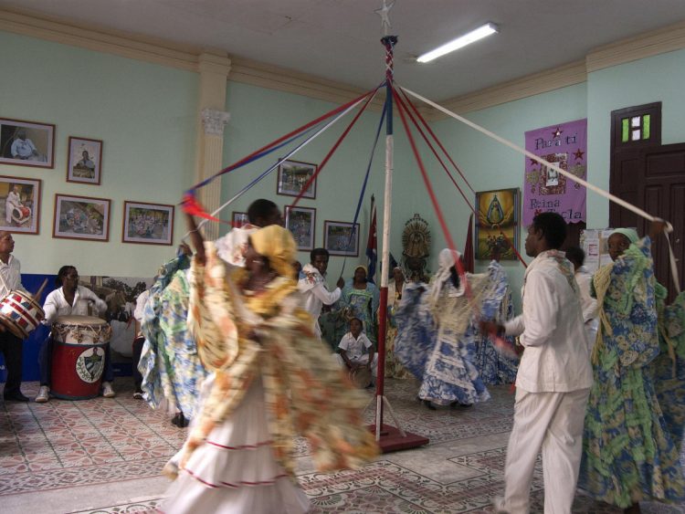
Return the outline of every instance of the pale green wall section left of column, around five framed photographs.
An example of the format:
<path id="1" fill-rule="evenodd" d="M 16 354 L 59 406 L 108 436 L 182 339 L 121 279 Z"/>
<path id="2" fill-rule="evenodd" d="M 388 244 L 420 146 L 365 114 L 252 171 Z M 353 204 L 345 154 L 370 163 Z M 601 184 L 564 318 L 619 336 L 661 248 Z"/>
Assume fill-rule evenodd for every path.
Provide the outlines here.
<path id="1" fill-rule="evenodd" d="M 191 184 L 197 74 L 5 32 L 0 47 L 0 117 L 56 125 L 54 169 L 0 164 L 42 180 L 39 235 L 15 235 L 22 270 L 153 276 L 174 247 L 122 244 L 123 202 L 176 204 Z M 69 136 L 104 142 L 100 185 L 66 181 Z M 53 238 L 56 193 L 111 199 L 110 241 Z M 178 242 L 178 209 L 175 221 Z"/>

